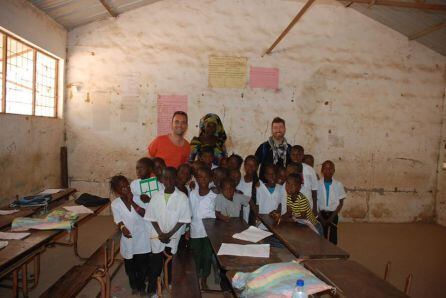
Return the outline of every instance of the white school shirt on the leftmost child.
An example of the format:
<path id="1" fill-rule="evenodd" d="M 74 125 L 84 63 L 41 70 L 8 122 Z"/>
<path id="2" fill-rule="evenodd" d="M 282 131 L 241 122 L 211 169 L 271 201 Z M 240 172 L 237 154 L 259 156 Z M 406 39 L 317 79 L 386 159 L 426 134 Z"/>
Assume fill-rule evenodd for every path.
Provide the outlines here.
<path id="1" fill-rule="evenodd" d="M 138 201 L 137 196 L 133 200 Z M 127 209 L 121 198 L 116 198 L 111 203 L 113 220 L 116 224 L 122 222 L 132 234 L 132 238 L 121 235 L 120 252 L 124 259 L 132 259 L 135 254 L 145 254 L 151 251 L 148 225 L 144 219 L 133 209 Z"/>

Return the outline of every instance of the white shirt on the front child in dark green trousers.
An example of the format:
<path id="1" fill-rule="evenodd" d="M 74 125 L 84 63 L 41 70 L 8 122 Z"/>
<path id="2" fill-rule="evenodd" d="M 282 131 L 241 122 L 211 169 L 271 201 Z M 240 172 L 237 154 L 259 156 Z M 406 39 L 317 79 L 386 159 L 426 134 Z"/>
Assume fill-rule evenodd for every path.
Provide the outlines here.
<path id="1" fill-rule="evenodd" d="M 209 191 L 207 195 L 200 196 L 198 189 L 193 190 L 189 196 L 189 203 L 192 212 L 192 221 L 190 224 L 191 238 L 207 237 L 203 225 L 203 218 L 215 218 L 215 198 L 217 195 Z"/>

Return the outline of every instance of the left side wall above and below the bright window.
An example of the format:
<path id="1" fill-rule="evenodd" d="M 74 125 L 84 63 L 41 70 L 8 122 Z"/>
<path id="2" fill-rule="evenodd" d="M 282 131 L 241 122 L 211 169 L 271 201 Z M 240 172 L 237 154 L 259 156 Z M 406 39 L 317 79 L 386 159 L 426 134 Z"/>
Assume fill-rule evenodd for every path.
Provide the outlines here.
<path id="1" fill-rule="evenodd" d="M 0 27 L 34 46 L 65 58 L 66 30 L 27 1 L 0 1 Z M 59 95 L 63 98 L 63 60 Z M 58 118 L 0 114 L 0 203 L 43 188 L 60 187 L 64 142 L 63 101 Z"/>

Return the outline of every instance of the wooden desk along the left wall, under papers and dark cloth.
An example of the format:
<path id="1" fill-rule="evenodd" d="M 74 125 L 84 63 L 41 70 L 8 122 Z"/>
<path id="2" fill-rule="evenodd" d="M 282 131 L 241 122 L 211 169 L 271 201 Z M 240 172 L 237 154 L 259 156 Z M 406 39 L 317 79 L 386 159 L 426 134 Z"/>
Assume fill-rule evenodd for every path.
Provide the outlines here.
<path id="1" fill-rule="evenodd" d="M 48 204 L 48 209 L 54 209 L 64 202 L 68 200 L 68 197 L 76 192 L 76 189 L 74 188 L 66 188 L 58 193 L 52 194 L 51 202 Z M 14 209 L 9 207 L 8 205 L 0 207 L 1 210 L 10 210 Z M 17 217 L 28 217 L 31 215 L 36 214 L 40 210 L 42 210 L 43 207 L 24 207 L 20 208 L 19 212 L 9 214 L 9 215 L 0 215 L 0 230 L 10 227 L 12 221 Z"/>

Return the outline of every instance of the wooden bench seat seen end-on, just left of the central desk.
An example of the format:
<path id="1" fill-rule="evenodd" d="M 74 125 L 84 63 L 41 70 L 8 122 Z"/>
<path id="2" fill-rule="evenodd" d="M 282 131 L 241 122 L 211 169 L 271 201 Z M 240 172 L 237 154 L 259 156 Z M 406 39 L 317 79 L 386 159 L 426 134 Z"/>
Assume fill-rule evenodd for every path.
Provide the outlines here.
<path id="1" fill-rule="evenodd" d="M 179 250 L 172 262 L 172 297 L 201 297 L 192 250 L 186 247 Z"/>

